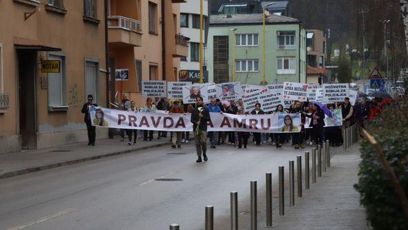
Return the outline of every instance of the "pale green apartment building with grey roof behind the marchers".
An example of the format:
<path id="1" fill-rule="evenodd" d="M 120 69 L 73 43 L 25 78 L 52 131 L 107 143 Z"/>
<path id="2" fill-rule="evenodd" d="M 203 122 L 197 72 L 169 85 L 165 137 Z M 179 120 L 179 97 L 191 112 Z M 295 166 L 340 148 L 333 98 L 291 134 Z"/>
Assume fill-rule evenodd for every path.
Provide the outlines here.
<path id="1" fill-rule="evenodd" d="M 270 14 L 265 29 L 268 84 L 306 82 L 306 30 L 298 19 Z M 207 43 L 210 82 L 263 81 L 263 15 L 211 15 Z"/>

